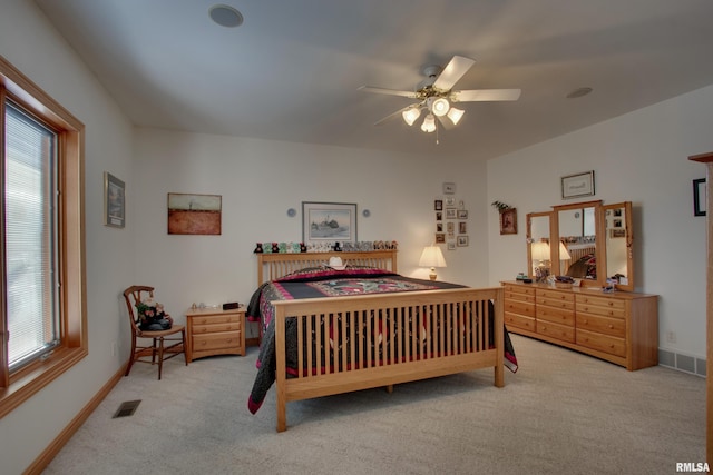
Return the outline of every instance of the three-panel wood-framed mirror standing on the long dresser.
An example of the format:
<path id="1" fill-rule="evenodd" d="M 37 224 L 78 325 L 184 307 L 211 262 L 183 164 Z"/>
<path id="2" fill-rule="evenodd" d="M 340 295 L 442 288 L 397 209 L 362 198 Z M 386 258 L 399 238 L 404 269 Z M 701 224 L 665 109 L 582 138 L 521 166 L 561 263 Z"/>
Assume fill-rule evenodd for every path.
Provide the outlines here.
<path id="1" fill-rule="evenodd" d="M 535 280 L 549 274 L 569 276 L 583 286 L 599 287 L 614 278 L 617 288 L 633 291 L 631 202 L 586 201 L 553 209 L 527 215 L 529 276 Z"/>

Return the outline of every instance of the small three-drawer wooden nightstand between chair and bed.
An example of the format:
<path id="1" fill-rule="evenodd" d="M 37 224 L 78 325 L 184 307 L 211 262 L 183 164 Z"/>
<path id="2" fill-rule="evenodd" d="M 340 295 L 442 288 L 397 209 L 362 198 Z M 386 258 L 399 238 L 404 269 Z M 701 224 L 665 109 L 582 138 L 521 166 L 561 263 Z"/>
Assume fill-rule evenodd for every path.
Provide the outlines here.
<path id="1" fill-rule="evenodd" d="M 245 356 L 245 307 L 186 311 L 186 360 L 213 355 Z"/>

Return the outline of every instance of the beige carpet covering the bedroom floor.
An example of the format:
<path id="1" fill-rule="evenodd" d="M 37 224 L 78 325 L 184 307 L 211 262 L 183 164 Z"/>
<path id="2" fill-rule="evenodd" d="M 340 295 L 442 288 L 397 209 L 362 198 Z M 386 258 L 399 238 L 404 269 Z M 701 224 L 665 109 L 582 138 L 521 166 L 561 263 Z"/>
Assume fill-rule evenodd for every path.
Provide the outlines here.
<path id="1" fill-rule="evenodd" d="M 624 368 L 514 335 L 520 369 L 246 407 L 256 348 L 138 365 L 47 474 L 672 474 L 705 461 L 705 380 Z M 135 415 L 111 418 L 126 400 Z"/>

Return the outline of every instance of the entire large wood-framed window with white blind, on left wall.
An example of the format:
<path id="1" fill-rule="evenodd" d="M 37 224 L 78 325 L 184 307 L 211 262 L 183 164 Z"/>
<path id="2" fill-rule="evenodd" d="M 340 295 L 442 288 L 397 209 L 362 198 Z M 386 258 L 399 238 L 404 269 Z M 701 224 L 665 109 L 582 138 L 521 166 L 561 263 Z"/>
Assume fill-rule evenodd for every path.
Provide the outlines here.
<path id="1" fill-rule="evenodd" d="M 87 355 L 84 126 L 0 57 L 0 417 Z"/>

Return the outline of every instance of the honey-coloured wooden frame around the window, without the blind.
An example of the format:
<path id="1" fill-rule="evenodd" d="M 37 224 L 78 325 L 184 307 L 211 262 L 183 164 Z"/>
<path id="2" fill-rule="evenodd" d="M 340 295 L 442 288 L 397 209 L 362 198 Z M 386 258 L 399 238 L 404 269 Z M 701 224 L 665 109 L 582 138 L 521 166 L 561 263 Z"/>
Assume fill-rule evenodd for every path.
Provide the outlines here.
<path id="1" fill-rule="evenodd" d="M 4 105 L 12 99 L 26 112 L 58 133 L 57 175 L 59 188 L 59 307 L 61 344 L 48 357 L 17 372 L 8 368 L 4 271 L 0 273 L 0 418 L 25 403 L 88 355 L 86 314 L 84 137 L 85 126 L 60 103 L 36 86 L 0 56 L 0 157 L 4 164 Z M 4 166 L 0 167 L 0 189 L 4 187 Z M 0 222 L 4 206 L 0 202 Z M 3 225 L 4 226 L 4 225 Z M 3 243 L 0 265 L 4 269 Z"/>

